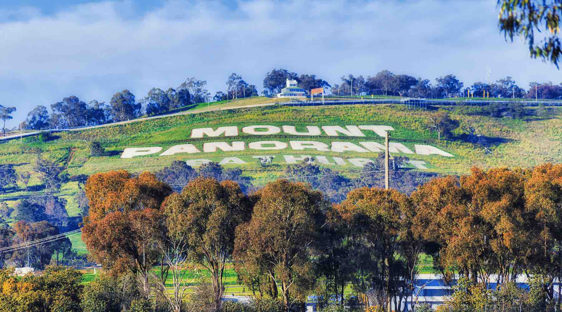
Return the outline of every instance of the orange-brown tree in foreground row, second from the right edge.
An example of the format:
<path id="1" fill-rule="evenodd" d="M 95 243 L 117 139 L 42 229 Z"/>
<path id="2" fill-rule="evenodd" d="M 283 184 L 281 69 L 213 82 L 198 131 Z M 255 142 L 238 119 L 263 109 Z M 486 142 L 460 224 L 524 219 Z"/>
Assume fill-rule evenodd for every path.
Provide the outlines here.
<path id="1" fill-rule="evenodd" d="M 490 274 L 497 274 L 498 283 L 514 282 L 525 267 L 534 230 L 533 217 L 524 205 L 524 172 L 472 168 L 471 175 L 461 176 L 460 187 L 467 195 L 468 215 L 457 224 L 460 232 L 455 241 L 464 244 L 457 250 L 472 253 L 479 270 L 472 273 L 482 281 L 490 282 Z"/>

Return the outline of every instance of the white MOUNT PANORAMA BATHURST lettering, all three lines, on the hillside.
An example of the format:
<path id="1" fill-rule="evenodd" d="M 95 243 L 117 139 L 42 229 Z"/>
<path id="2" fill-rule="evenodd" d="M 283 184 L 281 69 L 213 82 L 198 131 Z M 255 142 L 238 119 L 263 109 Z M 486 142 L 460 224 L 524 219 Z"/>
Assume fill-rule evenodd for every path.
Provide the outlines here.
<path id="1" fill-rule="evenodd" d="M 304 131 L 306 127 L 306 131 Z M 193 139 L 203 139 L 205 137 L 219 137 L 219 136 L 241 136 L 238 131 L 237 126 L 224 126 L 224 127 L 217 127 L 216 129 L 212 127 L 208 128 L 198 128 L 193 129 L 191 131 L 191 137 Z M 388 131 L 394 130 L 391 126 L 384 126 L 384 125 L 360 125 L 360 126 L 300 126 L 298 131 L 296 126 L 292 125 L 283 125 L 283 126 L 271 126 L 271 125 L 255 125 L 255 126 L 244 126 L 242 127 L 242 136 L 243 135 L 271 135 L 273 136 L 271 139 L 273 140 L 264 140 L 264 141 L 233 141 L 233 142 L 224 142 L 224 141 L 204 141 L 196 145 L 192 143 L 185 142 L 184 144 L 174 145 L 165 150 L 165 152 L 161 153 L 160 156 L 170 156 L 176 154 L 194 154 L 194 153 L 219 153 L 219 152 L 243 152 L 247 149 L 250 150 L 284 150 L 284 149 L 291 149 L 291 150 L 306 150 L 306 152 L 302 153 L 309 153 L 310 151 L 319 151 L 319 152 L 333 152 L 333 153 L 380 153 L 384 152 L 385 146 L 379 142 L 375 141 L 360 141 L 358 144 L 353 143 L 350 141 L 331 141 L 331 142 L 320 142 L 320 141 L 312 141 L 314 140 L 313 137 L 324 136 L 326 137 L 333 137 L 333 136 L 351 136 L 357 139 L 357 137 L 365 137 L 365 133 L 369 134 L 370 137 L 373 137 L 374 134 L 380 137 L 386 136 Z M 308 136 L 309 138 L 303 137 L 305 140 L 288 140 L 284 139 L 283 141 L 275 140 L 277 137 L 276 135 L 280 134 L 283 131 L 283 136 Z M 302 131 L 302 132 L 301 132 Z M 362 131 L 373 131 L 373 132 L 362 132 Z M 312 140 L 311 140 L 312 139 Z M 336 139 L 336 138 L 334 138 Z M 351 138 L 350 138 L 351 139 Z M 196 141 L 196 140 L 194 140 Z M 247 146 L 246 146 L 247 144 Z M 123 150 L 123 154 L 121 154 L 121 158 L 133 158 L 137 156 L 143 155 L 152 155 L 161 152 L 162 147 L 160 146 L 151 146 L 151 147 L 142 147 L 142 148 L 125 148 Z M 423 145 L 423 144 L 414 144 L 414 150 L 411 150 L 408 146 L 398 143 L 398 142 L 389 142 L 388 143 L 388 151 L 391 153 L 398 153 L 398 154 L 418 154 L 418 155 L 441 155 L 445 157 L 454 157 L 454 155 L 447 153 L 435 146 L 432 145 Z M 237 154 L 234 154 L 237 155 Z M 238 154 L 239 155 L 239 154 Z M 230 156 L 230 155 L 225 155 Z M 355 156 L 355 155 L 353 155 Z M 301 155 L 301 158 L 303 155 Z M 331 157 L 331 156 L 330 156 Z M 295 163 L 299 160 L 299 158 L 294 156 L 287 156 L 284 157 L 287 160 L 287 163 Z M 199 166 L 203 163 L 210 162 L 209 159 L 193 159 L 187 160 L 187 163 L 190 166 Z M 232 164 L 243 164 L 245 163 L 243 160 L 236 158 L 236 157 L 227 157 L 223 159 L 223 162 L 232 163 Z M 316 158 L 316 162 L 320 164 L 330 164 L 330 165 L 337 165 L 337 166 L 346 166 L 347 162 L 350 162 L 352 166 L 362 167 L 365 163 L 372 162 L 371 159 L 368 158 L 352 158 L 343 160 L 343 158 L 339 157 L 332 157 L 332 159 L 328 159 L 326 156 L 318 156 Z M 427 167 L 423 166 L 425 164 L 421 160 L 412 160 L 410 162 L 419 169 L 425 169 Z"/>

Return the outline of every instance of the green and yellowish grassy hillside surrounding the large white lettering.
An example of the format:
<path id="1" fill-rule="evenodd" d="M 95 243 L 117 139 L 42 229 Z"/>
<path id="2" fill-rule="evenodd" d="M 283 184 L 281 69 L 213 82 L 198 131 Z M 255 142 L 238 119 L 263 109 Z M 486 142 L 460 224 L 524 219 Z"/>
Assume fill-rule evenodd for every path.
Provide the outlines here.
<path id="1" fill-rule="evenodd" d="M 239 105 L 247 105 L 248 101 L 261 103 L 260 98 L 244 99 Z M 226 103 L 214 103 L 215 107 L 225 107 Z M 229 103 L 228 105 L 233 105 Z M 202 106 L 202 105 L 199 105 Z M 204 105 L 203 105 L 204 106 Z M 204 109 L 205 107 L 197 107 Z M 478 133 L 487 137 L 490 150 L 493 154 L 486 154 L 484 148 L 463 140 L 465 133 L 461 128 L 455 131 L 455 137 L 449 140 L 437 140 L 437 135 L 430 132 L 427 122 L 433 111 L 413 111 L 402 105 L 346 105 L 324 107 L 254 107 L 239 109 L 221 109 L 194 114 L 182 114 L 152 120 L 128 123 L 72 132 L 53 132 L 52 139 L 46 142 L 38 141 L 37 136 L 25 137 L 23 144 L 19 140 L 11 140 L 0 144 L 0 163 L 16 165 L 17 172 L 29 171 L 32 173 L 31 181 L 26 192 L 24 185 L 19 182 L 18 187 L 8 189 L 5 194 L 0 194 L 0 201 L 6 201 L 13 206 L 19 196 L 40 194 L 42 186 L 36 173 L 33 172 L 37 151 L 43 158 L 47 158 L 61 166 L 67 166 L 69 175 L 86 174 L 108 171 L 111 169 L 127 169 L 132 172 L 157 171 L 168 166 L 173 160 L 210 159 L 219 161 L 224 157 L 238 157 L 246 164 L 225 165 L 237 166 L 243 169 L 244 175 L 255 179 L 255 185 L 262 185 L 270 179 L 283 175 L 286 164 L 283 154 L 292 155 L 326 155 L 343 158 L 376 158 L 378 153 L 347 152 L 318 152 L 315 150 L 296 151 L 291 148 L 275 151 L 261 151 L 246 149 L 241 152 L 216 152 L 198 154 L 176 154 L 166 157 L 157 154 L 146 155 L 129 159 L 120 158 L 124 148 L 161 146 L 164 150 L 176 144 L 191 143 L 202 150 L 203 143 L 209 141 L 251 141 L 277 140 L 314 140 L 329 144 L 330 141 L 377 141 L 384 143 L 384 139 L 373 131 L 363 131 L 366 137 L 329 137 L 322 136 L 296 136 L 280 132 L 277 135 L 248 135 L 240 131 L 235 137 L 204 137 L 203 139 L 190 139 L 191 130 L 202 127 L 238 126 L 239 129 L 248 125 L 292 125 L 298 131 L 305 131 L 306 126 L 345 126 L 345 125 L 387 125 L 392 126 L 393 142 L 406 145 L 414 150 L 414 144 L 428 144 L 436 146 L 453 154 L 455 157 L 441 155 L 403 154 L 410 159 L 423 160 L 427 163 L 426 171 L 442 174 L 468 173 L 470 167 L 531 167 L 543 162 L 562 162 L 562 111 L 550 109 L 548 115 L 531 116 L 524 120 L 509 118 L 492 118 L 471 113 L 472 108 L 450 108 L 451 117 L 459 120 L 462 125 L 476 126 Z M 192 108 L 193 109 L 193 108 Z M 370 133 L 369 133 L 370 132 Z M 106 155 L 101 157 L 90 156 L 86 142 L 99 141 L 106 150 Z M 271 166 L 259 166 L 253 155 L 277 155 Z M 350 165 L 330 166 L 348 177 L 356 177 L 360 168 Z M 63 185 L 62 193 L 69 194 L 64 197 L 69 201 L 67 211 L 69 215 L 78 215 L 79 211 L 74 203 L 74 193 L 79 191 L 76 182 Z M 73 242 L 78 243 L 78 236 L 73 237 Z M 77 244 L 78 245 L 78 244 Z M 78 246 L 77 246 L 78 247 Z"/>

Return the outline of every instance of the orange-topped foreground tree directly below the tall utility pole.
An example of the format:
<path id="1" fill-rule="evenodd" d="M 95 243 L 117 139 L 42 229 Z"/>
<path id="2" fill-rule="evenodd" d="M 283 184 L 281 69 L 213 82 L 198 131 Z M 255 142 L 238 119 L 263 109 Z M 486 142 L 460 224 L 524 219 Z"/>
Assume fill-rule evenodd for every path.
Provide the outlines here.
<path id="1" fill-rule="evenodd" d="M 356 288 L 374 290 L 378 304 L 390 311 L 391 299 L 400 290 L 402 264 L 395 254 L 411 210 L 409 198 L 392 189 L 362 187 L 349 192 L 336 209 L 347 221 L 350 243 L 362 259 L 357 263 Z"/>

